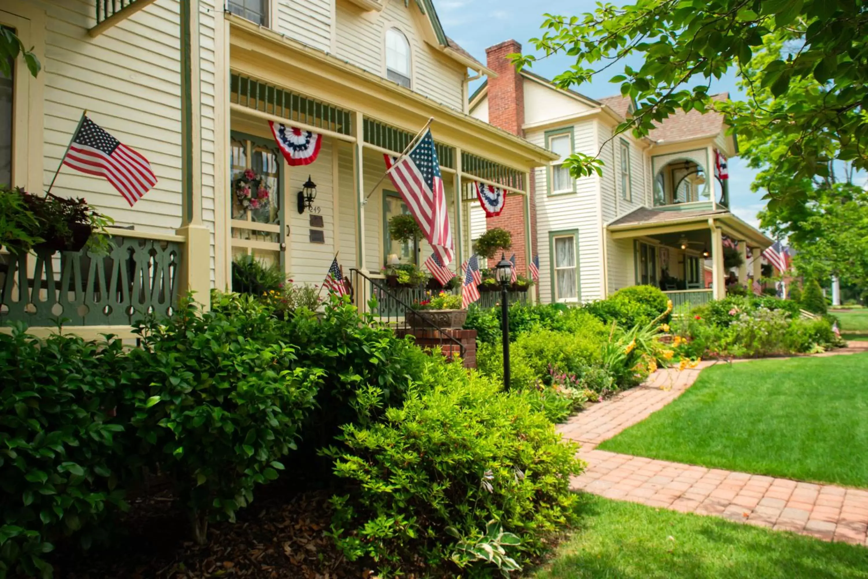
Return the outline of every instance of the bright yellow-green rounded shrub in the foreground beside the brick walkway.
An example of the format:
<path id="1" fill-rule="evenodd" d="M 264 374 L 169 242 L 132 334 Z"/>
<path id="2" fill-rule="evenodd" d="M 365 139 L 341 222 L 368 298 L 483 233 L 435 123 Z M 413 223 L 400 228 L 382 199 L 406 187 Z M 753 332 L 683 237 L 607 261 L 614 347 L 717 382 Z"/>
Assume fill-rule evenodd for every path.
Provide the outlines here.
<path id="1" fill-rule="evenodd" d="M 346 425 L 327 451 L 335 474 L 352 484 L 332 499 L 332 536 L 347 558 L 371 557 L 381 576 L 481 570 L 460 545 L 482 540 L 492 519 L 519 537 L 508 555 L 521 562 L 575 516 L 575 445 L 561 441 L 527 394 L 503 393 L 457 365 L 444 372 L 446 381 L 413 392 L 382 422 Z"/>

